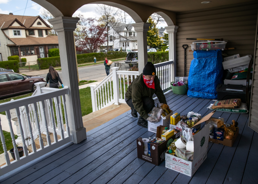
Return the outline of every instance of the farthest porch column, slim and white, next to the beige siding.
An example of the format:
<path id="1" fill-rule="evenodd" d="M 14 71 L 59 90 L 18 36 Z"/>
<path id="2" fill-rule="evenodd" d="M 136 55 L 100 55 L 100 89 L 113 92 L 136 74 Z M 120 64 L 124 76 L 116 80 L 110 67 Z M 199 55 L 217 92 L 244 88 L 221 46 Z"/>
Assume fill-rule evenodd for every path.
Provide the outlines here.
<path id="1" fill-rule="evenodd" d="M 168 33 L 168 58 L 174 61 L 171 71 L 171 81 L 174 81 L 176 77 L 176 32 L 178 26 L 167 26 L 165 28 Z"/>

